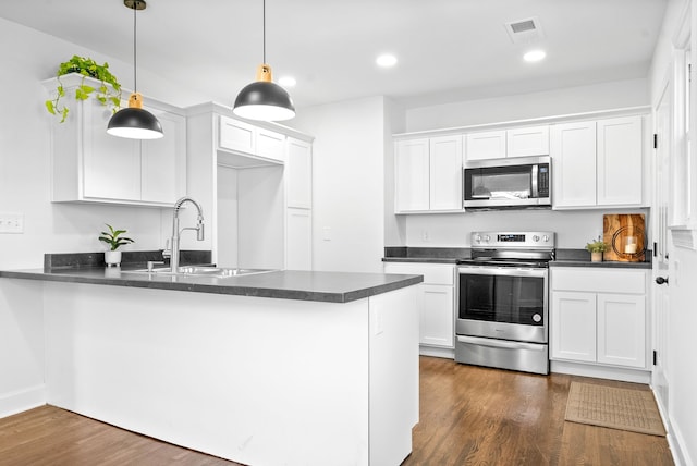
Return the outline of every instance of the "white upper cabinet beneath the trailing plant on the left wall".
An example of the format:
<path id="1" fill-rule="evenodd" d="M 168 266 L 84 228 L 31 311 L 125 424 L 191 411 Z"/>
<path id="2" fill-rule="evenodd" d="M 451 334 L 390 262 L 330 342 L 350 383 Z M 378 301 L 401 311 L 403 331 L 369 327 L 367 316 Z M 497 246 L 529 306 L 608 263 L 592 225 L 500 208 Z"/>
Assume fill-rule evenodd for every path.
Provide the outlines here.
<path id="1" fill-rule="evenodd" d="M 72 99 L 81 81 L 80 76 L 61 76 L 66 99 Z M 56 79 L 45 84 L 54 87 Z M 144 108 L 158 118 L 164 137 L 136 140 L 107 134 L 112 113 L 96 99 L 68 105 L 68 120 L 52 125 L 52 201 L 172 206 L 186 194 L 183 112 L 146 99 Z"/>

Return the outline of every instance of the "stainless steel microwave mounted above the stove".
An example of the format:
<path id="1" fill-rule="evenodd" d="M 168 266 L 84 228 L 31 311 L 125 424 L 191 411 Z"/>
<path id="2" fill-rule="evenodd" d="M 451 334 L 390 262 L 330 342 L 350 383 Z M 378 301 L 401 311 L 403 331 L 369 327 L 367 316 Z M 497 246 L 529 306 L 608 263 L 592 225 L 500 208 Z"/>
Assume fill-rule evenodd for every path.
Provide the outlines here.
<path id="1" fill-rule="evenodd" d="M 466 210 L 549 209 L 552 163 L 549 156 L 473 160 L 464 168 Z"/>

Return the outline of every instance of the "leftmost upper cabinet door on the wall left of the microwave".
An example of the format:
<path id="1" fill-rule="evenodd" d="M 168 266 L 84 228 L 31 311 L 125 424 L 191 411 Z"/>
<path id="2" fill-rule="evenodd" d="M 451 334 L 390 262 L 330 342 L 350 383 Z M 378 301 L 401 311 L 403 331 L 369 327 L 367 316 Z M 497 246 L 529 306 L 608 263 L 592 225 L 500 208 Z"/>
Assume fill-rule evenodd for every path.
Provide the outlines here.
<path id="1" fill-rule="evenodd" d="M 429 208 L 429 142 L 400 140 L 395 147 L 395 210 L 408 212 Z"/>

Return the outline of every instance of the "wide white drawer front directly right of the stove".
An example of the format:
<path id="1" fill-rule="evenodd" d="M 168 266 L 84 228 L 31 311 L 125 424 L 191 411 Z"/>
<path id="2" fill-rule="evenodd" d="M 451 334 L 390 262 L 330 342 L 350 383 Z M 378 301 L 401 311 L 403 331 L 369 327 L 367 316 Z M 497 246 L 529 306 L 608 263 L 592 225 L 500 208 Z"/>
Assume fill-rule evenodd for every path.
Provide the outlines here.
<path id="1" fill-rule="evenodd" d="M 599 268 L 551 270 L 553 291 L 646 293 L 646 271 Z"/>

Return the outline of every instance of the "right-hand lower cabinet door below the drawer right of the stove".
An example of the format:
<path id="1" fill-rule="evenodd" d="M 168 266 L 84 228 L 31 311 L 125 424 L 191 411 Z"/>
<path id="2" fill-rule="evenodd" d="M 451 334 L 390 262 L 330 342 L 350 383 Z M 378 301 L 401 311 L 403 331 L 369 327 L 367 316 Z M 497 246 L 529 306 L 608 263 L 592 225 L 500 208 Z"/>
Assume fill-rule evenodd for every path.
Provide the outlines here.
<path id="1" fill-rule="evenodd" d="M 646 367 L 646 297 L 598 294 L 598 363 Z"/>

